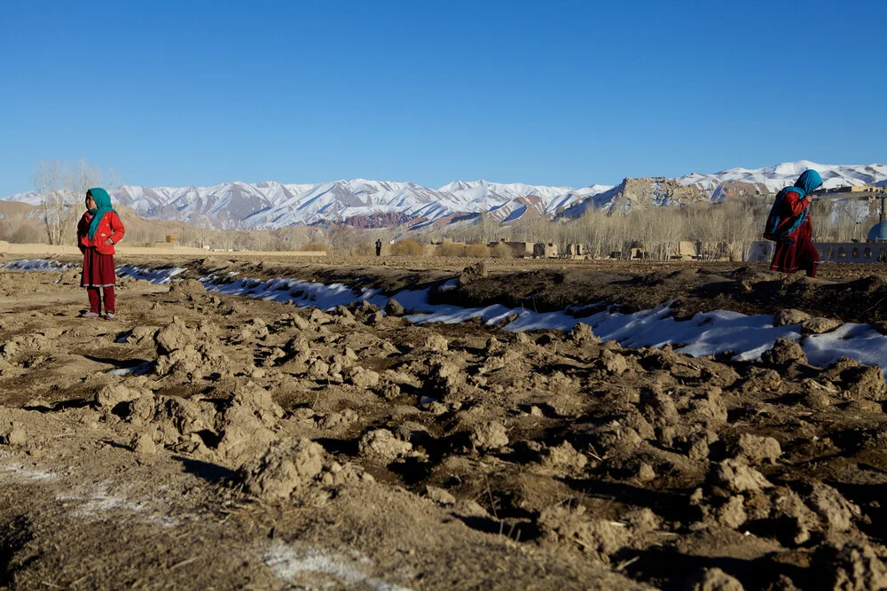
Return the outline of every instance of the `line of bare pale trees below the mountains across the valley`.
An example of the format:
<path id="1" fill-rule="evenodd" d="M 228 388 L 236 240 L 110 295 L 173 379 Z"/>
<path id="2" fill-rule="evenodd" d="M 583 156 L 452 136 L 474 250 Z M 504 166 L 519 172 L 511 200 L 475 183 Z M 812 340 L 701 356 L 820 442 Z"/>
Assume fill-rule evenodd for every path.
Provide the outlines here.
<path id="1" fill-rule="evenodd" d="M 589 211 L 577 219 L 536 218 L 499 226 L 486 214 L 458 224 L 455 229 L 367 229 L 341 224 L 327 226 L 289 226 L 273 230 L 218 230 L 208 219 L 192 224 L 149 222 L 126 215 L 126 241 L 130 245 L 163 242 L 175 235 L 177 244 L 224 251 L 303 251 L 326 250 L 353 254 L 372 254 L 376 240 L 383 243 L 411 244 L 395 250 L 404 255 L 420 255 L 421 245 L 440 244 L 444 238 L 466 245 L 445 245 L 436 253 L 444 256 L 508 256 L 503 248 L 488 248 L 500 239 L 543 242 L 558 245 L 561 253 L 567 245 L 583 245 L 584 252 L 596 257 L 631 256 L 640 248 L 654 260 L 668 260 L 681 242 L 691 242 L 703 259 L 731 257 L 744 259 L 751 244 L 760 240 L 773 197 L 731 198 L 720 204 L 659 207 L 629 210 L 625 214 Z M 10 204 L 12 205 L 12 204 Z M 65 215 L 64 242 L 74 240 L 79 208 Z M 818 199 L 811 206 L 813 239 L 819 242 L 865 240 L 865 234 L 878 221 L 877 206 L 866 201 Z M 453 224 L 457 225 L 457 224 Z M 48 233 L 39 210 L 28 206 L 6 207 L 0 218 L 0 240 L 12 243 L 48 243 Z M 413 246 L 413 245 L 418 245 Z"/>

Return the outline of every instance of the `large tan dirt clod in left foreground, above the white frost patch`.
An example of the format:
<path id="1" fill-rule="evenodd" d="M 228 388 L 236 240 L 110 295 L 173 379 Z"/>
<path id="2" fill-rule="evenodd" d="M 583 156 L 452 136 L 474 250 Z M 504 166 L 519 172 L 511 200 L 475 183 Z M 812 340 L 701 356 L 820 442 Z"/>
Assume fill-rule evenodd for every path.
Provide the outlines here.
<path id="1" fill-rule="evenodd" d="M 281 439 L 255 462 L 240 469 L 250 494 L 264 501 L 286 499 L 324 468 L 324 448 L 310 439 Z"/>

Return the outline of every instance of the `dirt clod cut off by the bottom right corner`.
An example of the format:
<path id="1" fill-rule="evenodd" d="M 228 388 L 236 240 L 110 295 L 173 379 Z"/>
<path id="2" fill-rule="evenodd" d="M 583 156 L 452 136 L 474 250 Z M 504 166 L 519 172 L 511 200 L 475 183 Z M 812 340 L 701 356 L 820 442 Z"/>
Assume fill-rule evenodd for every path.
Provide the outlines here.
<path id="1" fill-rule="evenodd" d="M 834 591 L 867 591 L 887 587 L 887 566 L 865 542 L 853 541 L 838 547 L 821 546 L 813 558 L 819 566 L 821 588 Z"/>

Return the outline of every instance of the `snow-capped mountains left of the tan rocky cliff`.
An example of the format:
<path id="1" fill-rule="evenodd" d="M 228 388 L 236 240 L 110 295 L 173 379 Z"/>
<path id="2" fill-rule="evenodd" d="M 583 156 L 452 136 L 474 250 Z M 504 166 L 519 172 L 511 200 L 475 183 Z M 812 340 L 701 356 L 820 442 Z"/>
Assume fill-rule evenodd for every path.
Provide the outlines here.
<path id="1" fill-rule="evenodd" d="M 606 191 L 594 185 L 574 190 L 527 184 L 455 181 L 440 189 L 416 183 L 352 179 L 320 184 L 223 183 L 212 187 L 123 186 L 114 199 L 147 219 L 211 223 L 219 229 L 270 229 L 293 224 L 347 221 L 374 214 L 402 214 L 421 228 L 454 214 L 496 212 L 513 222 L 524 215 L 552 214 Z M 6 198 L 32 205 L 35 192 Z"/>

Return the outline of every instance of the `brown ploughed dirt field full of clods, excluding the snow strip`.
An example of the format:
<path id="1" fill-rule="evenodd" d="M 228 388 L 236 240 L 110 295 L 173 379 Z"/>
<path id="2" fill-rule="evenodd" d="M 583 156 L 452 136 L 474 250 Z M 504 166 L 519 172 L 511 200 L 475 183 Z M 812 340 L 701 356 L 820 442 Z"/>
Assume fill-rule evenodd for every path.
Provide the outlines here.
<path id="1" fill-rule="evenodd" d="M 884 265 L 126 262 L 388 292 L 460 277 L 435 297 L 539 311 L 790 308 L 827 319 L 813 332 L 883 331 L 887 307 Z M 90 321 L 78 285 L 0 272 L 0 585 L 887 586 L 880 369 L 813 367 L 789 342 L 750 363 L 581 324 L 414 326 L 196 281 L 124 280 L 118 320 Z"/>

